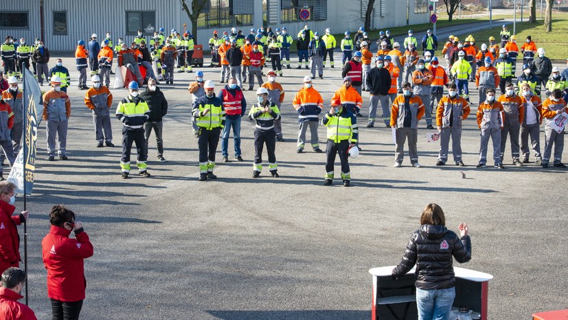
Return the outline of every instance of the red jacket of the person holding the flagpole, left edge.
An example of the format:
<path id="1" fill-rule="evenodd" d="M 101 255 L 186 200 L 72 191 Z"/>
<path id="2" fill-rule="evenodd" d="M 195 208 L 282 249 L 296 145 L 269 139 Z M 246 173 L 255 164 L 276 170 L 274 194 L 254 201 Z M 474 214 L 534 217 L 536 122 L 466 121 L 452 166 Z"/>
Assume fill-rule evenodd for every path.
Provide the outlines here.
<path id="1" fill-rule="evenodd" d="M 15 209 L 0 200 L 0 274 L 10 267 L 19 267 L 20 236 L 16 225 L 23 222 L 23 215 L 12 217 Z"/>

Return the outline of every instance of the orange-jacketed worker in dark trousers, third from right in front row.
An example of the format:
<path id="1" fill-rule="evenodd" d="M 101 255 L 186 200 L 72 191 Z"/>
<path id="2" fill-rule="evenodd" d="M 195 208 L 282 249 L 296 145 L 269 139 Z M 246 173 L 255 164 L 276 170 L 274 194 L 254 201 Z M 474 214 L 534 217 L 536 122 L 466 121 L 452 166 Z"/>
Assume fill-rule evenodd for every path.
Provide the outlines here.
<path id="1" fill-rule="evenodd" d="M 503 130 L 501 131 L 501 161 L 503 161 L 505 155 L 505 144 L 509 135 L 513 164 L 522 167 L 523 164 L 519 160 L 519 132 L 525 116 L 525 106 L 523 106 L 521 97 L 514 92 L 514 86 L 511 82 L 505 84 L 505 94 L 501 95 L 497 101 L 503 105 L 505 112 L 505 121 L 503 121 Z"/>

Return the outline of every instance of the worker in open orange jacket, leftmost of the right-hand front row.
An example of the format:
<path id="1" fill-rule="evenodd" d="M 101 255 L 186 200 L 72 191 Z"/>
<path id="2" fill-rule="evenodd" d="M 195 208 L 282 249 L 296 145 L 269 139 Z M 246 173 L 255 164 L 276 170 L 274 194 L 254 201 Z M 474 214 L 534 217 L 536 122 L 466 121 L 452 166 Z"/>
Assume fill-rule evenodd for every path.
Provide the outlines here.
<path id="1" fill-rule="evenodd" d="M 422 167 L 418 163 L 418 121 L 424 116 L 424 103 L 420 97 L 413 95 L 409 82 L 402 84 L 402 95 L 394 99 L 391 107 L 391 128 L 395 131 L 396 149 L 394 167 L 402 167 L 405 152 L 405 141 L 408 138 L 408 152 L 413 167 Z"/>

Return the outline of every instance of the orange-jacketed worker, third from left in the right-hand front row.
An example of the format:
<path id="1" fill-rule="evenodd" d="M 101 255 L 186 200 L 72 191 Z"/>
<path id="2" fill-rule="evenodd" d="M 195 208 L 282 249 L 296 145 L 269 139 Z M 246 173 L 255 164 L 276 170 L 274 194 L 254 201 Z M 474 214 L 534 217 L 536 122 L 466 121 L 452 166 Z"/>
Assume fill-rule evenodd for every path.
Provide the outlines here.
<path id="1" fill-rule="evenodd" d="M 491 138 L 495 167 L 505 169 L 501 160 L 501 131 L 503 130 L 504 118 L 503 105 L 501 102 L 495 101 L 495 89 L 488 88 L 486 101 L 480 101 L 479 108 L 477 108 L 477 126 L 481 130 L 481 147 L 479 147 L 477 168 L 485 167 L 487 163 L 487 145 Z"/>

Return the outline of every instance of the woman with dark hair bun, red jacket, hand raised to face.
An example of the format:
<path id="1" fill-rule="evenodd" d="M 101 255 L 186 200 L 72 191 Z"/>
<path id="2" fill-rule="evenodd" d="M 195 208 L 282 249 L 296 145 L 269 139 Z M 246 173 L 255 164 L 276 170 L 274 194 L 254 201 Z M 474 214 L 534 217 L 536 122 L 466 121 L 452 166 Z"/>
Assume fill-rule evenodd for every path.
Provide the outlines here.
<path id="1" fill-rule="evenodd" d="M 75 213 L 58 204 L 49 212 L 49 234 L 41 241 L 47 269 L 47 297 L 52 300 L 53 319 L 79 319 L 87 280 L 83 260 L 93 256 L 93 245 Z M 69 238 L 71 231 L 75 238 Z"/>

